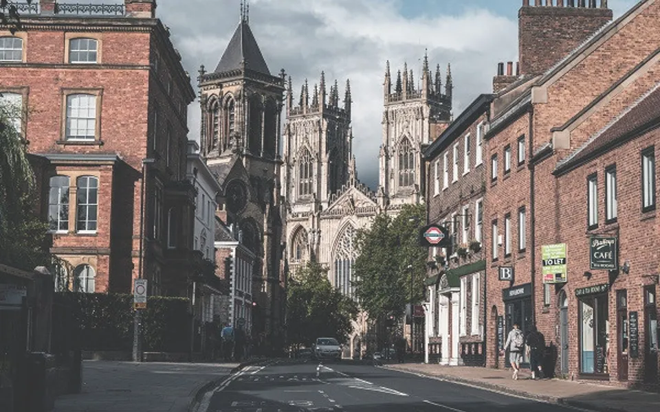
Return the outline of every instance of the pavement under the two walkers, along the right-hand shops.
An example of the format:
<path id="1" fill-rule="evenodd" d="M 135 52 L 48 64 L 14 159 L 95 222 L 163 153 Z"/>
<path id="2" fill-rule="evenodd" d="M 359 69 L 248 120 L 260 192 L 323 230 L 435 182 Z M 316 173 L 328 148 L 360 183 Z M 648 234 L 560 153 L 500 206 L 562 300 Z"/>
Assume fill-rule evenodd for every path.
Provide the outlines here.
<path id="1" fill-rule="evenodd" d="M 522 369 L 518 380 L 511 379 L 507 369 L 461 367 L 403 363 L 382 365 L 383 369 L 404 371 L 443 381 L 457 382 L 514 396 L 562 404 L 599 412 L 656 412 L 660 411 L 660 393 L 634 391 L 592 382 L 562 379 L 532 380 L 529 371 Z"/>

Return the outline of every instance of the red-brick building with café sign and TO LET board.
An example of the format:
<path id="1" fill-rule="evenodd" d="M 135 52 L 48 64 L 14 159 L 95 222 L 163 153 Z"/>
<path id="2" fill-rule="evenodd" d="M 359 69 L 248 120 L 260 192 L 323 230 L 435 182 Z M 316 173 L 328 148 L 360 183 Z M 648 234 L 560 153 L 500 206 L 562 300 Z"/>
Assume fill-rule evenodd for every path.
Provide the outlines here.
<path id="1" fill-rule="evenodd" d="M 572 3 L 524 2 L 520 75 L 492 104 L 487 365 L 504 365 L 497 349 L 512 323 L 523 332 L 536 323 L 546 371 L 657 385 L 660 1 L 640 1 L 603 27 L 605 1 Z M 526 40 L 544 24 L 573 44 Z M 498 277 L 503 268 L 513 279 Z"/>

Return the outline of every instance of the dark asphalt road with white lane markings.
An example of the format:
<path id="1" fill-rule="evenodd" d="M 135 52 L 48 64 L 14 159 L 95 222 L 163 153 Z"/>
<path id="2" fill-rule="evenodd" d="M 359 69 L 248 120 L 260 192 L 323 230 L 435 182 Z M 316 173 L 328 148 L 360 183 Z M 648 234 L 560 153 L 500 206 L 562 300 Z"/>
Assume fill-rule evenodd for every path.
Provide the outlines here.
<path id="1" fill-rule="evenodd" d="M 206 394 L 197 412 L 566 412 L 540 403 L 352 362 L 270 361 Z"/>

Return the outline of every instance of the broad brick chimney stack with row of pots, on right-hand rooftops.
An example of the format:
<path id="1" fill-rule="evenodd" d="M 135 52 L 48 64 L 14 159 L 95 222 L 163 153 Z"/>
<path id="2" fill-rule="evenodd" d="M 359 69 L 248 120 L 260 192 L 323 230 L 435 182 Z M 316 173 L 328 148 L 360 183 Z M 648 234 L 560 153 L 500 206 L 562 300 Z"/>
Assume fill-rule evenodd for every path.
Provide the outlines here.
<path id="1" fill-rule="evenodd" d="M 518 56 L 521 74 L 540 74 L 573 52 L 587 38 L 612 20 L 612 10 L 595 7 L 539 7 L 523 1 L 518 11 Z M 578 3 L 579 4 L 579 3 Z"/>

